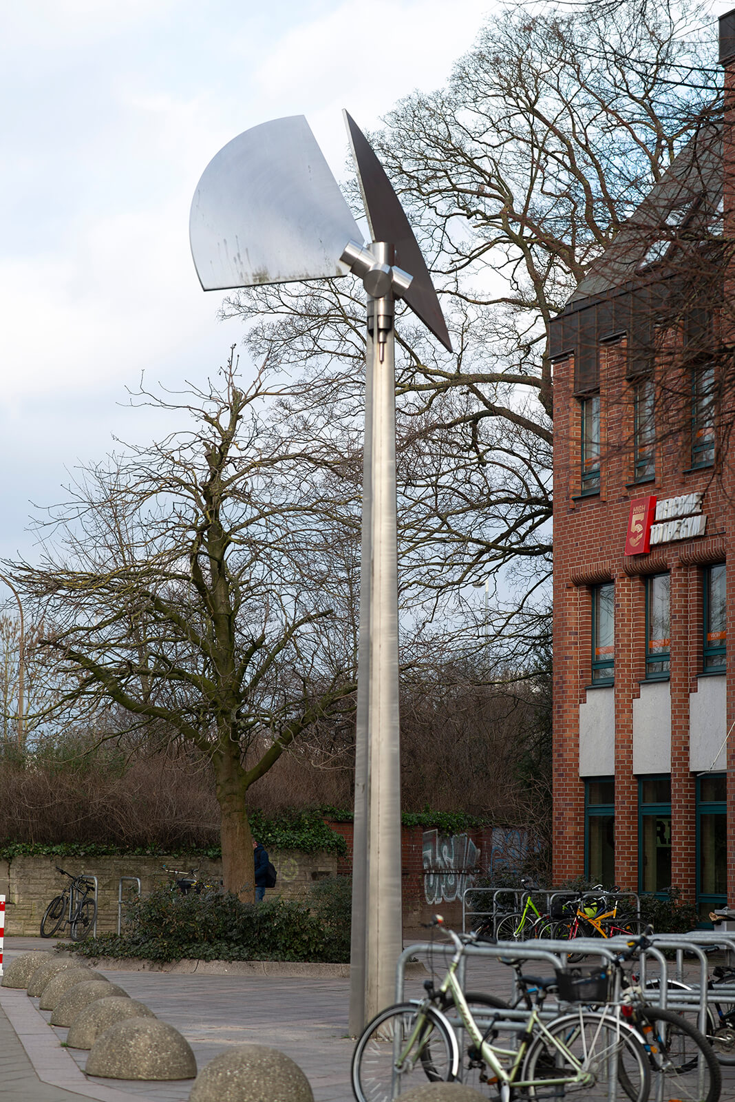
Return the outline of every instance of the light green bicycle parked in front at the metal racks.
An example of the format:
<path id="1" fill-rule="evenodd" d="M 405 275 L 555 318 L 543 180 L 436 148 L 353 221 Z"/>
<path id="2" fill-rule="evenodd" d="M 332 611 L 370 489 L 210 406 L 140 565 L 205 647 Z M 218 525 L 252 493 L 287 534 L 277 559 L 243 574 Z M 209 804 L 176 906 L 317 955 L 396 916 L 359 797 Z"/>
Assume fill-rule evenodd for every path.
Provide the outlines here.
<path id="1" fill-rule="evenodd" d="M 435 925 L 442 925 L 439 917 Z M 531 1004 L 527 996 L 528 1013 L 517 1047 L 496 1045 L 496 1022 L 484 1031 L 480 1028 L 470 1007 L 470 1001 L 478 996 L 465 996 L 456 974 L 465 947 L 478 940 L 476 933 L 459 936 L 447 930 L 447 934 L 454 954 L 440 986 L 426 981 L 424 1000 L 388 1006 L 360 1036 L 351 1067 L 358 1102 L 391 1102 L 415 1082 L 465 1079 L 469 1072 L 476 1072 L 493 1093 L 498 1091 L 501 1102 L 509 1102 L 513 1091 L 524 1091 L 529 1099 L 538 1099 L 539 1091 L 561 1099 L 580 1090 L 585 1102 L 603 1102 L 614 1096 L 616 1080 L 630 1102 L 646 1102 L 650 1069 L 629 1026 L 581 1008 L 550 1026 L 541 1020 L 546 993 L 557 979 L 534 980 L 536 1002 Z M 489 996 L 479 997 L 489 1005 Z M 470 1039 L 463 1056 L 441 1008 L 450 1002 Z M 497 1008 L 495 1017 L 502 1013 Z"/>

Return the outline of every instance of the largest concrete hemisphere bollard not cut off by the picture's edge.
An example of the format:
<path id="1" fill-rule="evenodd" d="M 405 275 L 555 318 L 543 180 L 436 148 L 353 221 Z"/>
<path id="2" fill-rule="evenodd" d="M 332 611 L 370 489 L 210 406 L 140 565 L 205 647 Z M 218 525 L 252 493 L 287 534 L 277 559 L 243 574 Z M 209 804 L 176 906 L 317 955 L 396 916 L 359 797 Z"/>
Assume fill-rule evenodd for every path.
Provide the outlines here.
<path id="1" fill-rule="evenodd" d="M 97 1038 L 85 1071 L 106 1079 L 194 1079 L 197 1061 L 173 1026 L 157 1018 L 128 1018 Z"/>

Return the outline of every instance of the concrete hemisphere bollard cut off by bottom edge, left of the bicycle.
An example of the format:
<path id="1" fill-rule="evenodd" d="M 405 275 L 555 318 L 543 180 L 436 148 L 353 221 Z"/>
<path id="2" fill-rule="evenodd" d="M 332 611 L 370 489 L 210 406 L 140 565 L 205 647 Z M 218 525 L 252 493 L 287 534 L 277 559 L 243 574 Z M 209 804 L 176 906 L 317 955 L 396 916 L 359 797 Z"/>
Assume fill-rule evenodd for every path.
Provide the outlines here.
<path id="1" fill-rule="evenodd" d="M 314 1102 L 297 1063 L 266 1045 L 238 1045 L 202 1068 L 189 1102 Z"/>

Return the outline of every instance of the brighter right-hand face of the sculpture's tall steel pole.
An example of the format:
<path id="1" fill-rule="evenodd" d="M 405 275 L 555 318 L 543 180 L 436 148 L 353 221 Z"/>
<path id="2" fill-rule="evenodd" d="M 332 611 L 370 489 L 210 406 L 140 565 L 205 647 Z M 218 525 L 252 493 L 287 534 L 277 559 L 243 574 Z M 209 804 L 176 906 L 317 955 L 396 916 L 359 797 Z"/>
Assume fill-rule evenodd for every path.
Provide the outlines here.
<path id="1" fill-rule="evenodd" d="M 393 246 L 373 242 L 379 263 Z M 368 890 L 365 1018 L 393 1001 L 403 948 L 395 342 L 392 290 L 373 301 L 368 669 Z"/>

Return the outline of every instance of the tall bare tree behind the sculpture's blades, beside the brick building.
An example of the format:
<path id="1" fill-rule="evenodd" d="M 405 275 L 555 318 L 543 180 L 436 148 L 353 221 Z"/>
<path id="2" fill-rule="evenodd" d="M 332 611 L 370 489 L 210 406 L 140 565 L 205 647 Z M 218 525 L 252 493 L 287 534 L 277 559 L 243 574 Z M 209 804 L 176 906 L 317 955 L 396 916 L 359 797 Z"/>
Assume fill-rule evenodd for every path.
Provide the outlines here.
<path id="1" fill-rule="evenodd" d="M 372 136 L 456 347 L 448 356 L 399 318 L 403 584 L 416 599 L 512 566 L 528 605 L 548 576 L 547 325 L 716 112 L 718 83 L 703 8 L 515 3 L 493 14 L 446 88 L 407 97 Z M 344 281 L 282 285 L 233 294 L 222 314 L 241 317 L 251 350 L 296 372 L 310 407 L 343 426 L 360 413 L 360 300 Z M 294 415 L 304 409 L 292 401 Z M 498 629 L 516 608 L 505 604 Z"/>

